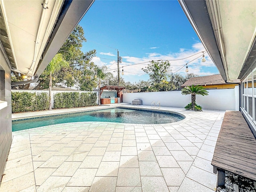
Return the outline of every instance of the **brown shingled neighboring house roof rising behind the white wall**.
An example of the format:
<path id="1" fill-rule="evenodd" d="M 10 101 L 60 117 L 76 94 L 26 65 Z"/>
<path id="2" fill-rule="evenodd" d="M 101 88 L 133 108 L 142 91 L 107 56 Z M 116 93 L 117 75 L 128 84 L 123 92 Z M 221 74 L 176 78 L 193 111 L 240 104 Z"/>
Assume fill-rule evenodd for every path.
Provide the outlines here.
<path id="1" fill-rule="evenodd" d="M 240 80 L 234 81 L 234 84 L 240 83 Z M 220 74 L 217 75 L 208 75 L 208 76 L 200 76 L 200 77 L 192 77 L 187 80 L 181 87 L 192 86 L 192 85 L 219 85 L 219 84 L 227 84 Z"/>

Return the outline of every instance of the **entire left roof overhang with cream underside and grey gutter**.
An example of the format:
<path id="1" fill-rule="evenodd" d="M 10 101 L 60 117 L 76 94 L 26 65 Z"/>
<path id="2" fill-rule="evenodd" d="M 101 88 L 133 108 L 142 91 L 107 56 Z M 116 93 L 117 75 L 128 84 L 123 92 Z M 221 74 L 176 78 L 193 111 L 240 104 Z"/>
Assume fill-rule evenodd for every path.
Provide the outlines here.
<path id="1" fill-rule="evenodd" d="M 0 48 L 11 70 L 39 77 L 93 2 L 0 0 Z"/>

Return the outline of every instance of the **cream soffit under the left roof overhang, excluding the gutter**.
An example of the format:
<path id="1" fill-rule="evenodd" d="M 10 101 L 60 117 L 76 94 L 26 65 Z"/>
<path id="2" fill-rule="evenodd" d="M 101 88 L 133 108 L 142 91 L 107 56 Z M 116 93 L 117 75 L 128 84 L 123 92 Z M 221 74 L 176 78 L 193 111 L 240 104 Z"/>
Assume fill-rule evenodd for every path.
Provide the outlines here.
<path id="1" fill-rule="evenodd" d="M 43 0 L 2 0 L 0 2 L 16 69 L 21 73 L 34 75 L 62 2 L 63 0 L 49 0 L 48 8 L 45 10 L 42 8 Z M 42 24 L 38 33 L 41 18 Z"/>

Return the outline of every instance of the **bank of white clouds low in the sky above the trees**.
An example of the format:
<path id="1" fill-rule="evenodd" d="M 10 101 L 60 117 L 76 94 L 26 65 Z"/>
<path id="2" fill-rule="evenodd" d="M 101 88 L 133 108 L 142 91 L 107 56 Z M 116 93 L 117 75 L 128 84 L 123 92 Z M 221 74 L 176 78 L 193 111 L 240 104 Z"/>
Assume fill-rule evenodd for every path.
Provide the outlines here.
<path id="1" fill-rule="evenodd" d="M 180 48 L 179 52 L 169 53 L 166 55 L 153 52 L 147 53 L 146 56 L 142 58 L 123 56 L 123 62 L 120 63 L 120 74 L 122 73 L 122 69 L 124 69 L 124 76 L 122 77 L 126 81 L 129 80 L 130 82 L 138 82 L 138 80 L 148 80 L 148 75 L 142 70 L 142 68 L 145 68 L 152 60 L 170 60 L 170 72 L 177 72 L 182 75 L 186 75 L 186 63 L 188 63 L 187 65 L 189 73 L 192 72 L 194 74 L 198 74 L 199 76 L 217 74 L 218 70 L 214 66 L 208 54 L 205 54 L 206 62 L 202 63 L 202 51 L 204 50 L 205 49 L 202 43 L 196 42 L 192 45 L 191 49 Z M 114 64 L 115 62 L 116 61 L 105 63 L 100 61 L 100 58 L 95 59 L 96 64 L 100 64 L 100 66 L 103 64 L 108 66 L 110 72 L 116 76 L 117 64 Z"/>

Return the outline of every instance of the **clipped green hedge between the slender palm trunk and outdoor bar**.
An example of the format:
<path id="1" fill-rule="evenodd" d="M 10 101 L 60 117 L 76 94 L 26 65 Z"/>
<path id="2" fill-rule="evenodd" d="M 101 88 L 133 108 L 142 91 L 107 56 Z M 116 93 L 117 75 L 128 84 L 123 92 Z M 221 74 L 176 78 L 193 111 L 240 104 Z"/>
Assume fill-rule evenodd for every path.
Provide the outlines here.
<path id="1" fill-rule="evenodd" d="M 97 103 L 96 93 L 62 92 L 53 96 L 53 108 L 72 108 L 94 106 Z"/>

